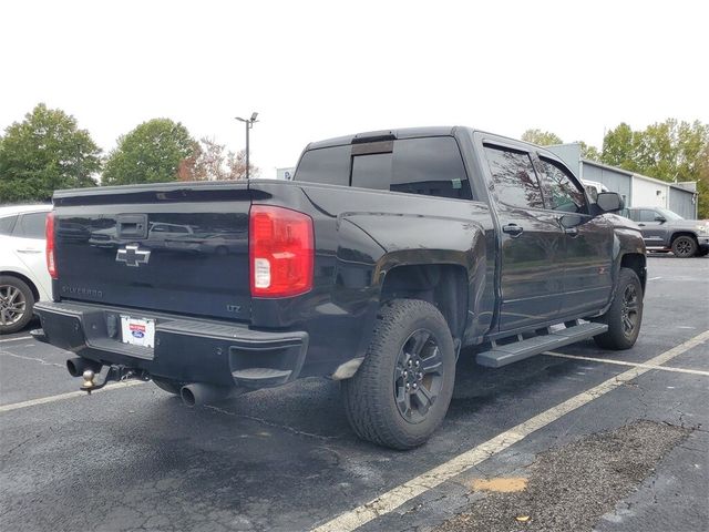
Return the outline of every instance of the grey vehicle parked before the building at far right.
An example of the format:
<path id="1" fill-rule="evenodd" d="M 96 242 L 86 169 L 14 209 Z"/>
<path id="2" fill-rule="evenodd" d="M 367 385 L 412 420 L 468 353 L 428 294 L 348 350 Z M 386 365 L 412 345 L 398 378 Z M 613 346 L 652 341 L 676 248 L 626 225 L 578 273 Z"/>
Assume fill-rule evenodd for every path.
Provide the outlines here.
<path id="1" fill-rule="evenodd" d="M 662 207 L 624 208 L 620 214 L 637 222 L 650 250 L 672 252 L 679 258 L 709 254 L 709 221 L 685 219 Z"/>

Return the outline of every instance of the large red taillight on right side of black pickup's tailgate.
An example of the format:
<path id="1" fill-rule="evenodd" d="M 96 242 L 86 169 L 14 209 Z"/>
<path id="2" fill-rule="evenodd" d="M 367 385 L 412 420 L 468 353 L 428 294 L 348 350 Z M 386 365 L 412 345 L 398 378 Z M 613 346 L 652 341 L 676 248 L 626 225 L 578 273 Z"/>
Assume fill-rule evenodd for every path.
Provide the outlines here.
<path id="1" fill-rule="evenodd" d="M 288 297 L 312 288 L 312 218 L 284 207 L 253 205 L 248 254 L 251 296 Z"/>

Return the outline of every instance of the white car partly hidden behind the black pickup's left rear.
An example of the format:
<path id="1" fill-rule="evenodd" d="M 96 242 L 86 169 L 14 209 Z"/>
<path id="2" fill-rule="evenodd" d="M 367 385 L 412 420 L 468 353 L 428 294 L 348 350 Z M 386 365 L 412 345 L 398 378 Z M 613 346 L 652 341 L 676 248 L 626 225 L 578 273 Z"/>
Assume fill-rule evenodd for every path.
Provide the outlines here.
<path id="1" fill-rule="evenodd" d="M 44 221 L 51 205 L 0 207 L 0 335 L 22 329 L 34 303 L 51 299 Z"/>

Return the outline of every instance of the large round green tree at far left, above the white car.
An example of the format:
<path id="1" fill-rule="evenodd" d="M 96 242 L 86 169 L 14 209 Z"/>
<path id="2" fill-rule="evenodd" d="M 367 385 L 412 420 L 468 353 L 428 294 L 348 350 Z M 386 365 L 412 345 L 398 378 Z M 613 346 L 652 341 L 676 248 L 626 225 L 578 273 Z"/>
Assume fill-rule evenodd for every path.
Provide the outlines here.
<path id="1" fill-rule="evenodd" d="M 0 203 L 45 202 L 58 188 L 95 186 L 101 150 L 76 120 L 38 104 L 0 139 Z"/>

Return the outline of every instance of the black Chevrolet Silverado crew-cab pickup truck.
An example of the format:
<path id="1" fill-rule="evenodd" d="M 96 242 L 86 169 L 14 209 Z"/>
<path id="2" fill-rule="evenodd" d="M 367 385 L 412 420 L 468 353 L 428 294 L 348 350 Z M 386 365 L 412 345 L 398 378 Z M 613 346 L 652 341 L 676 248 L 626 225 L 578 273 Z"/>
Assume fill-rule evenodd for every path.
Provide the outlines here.
<path id="1" fill-rule="evenodd" d="M 356 432 L 440 424 L 461 348 L 500 367 L 634 345 L 645 245 L 554 154 L 467 127 L 308 145 L 295 181 L 56 192 L 41 341 L 83 389 L 152 379 L 188 405 L 325 376 Z M 105 368 L 104 368 L 105 369 Z"/>

